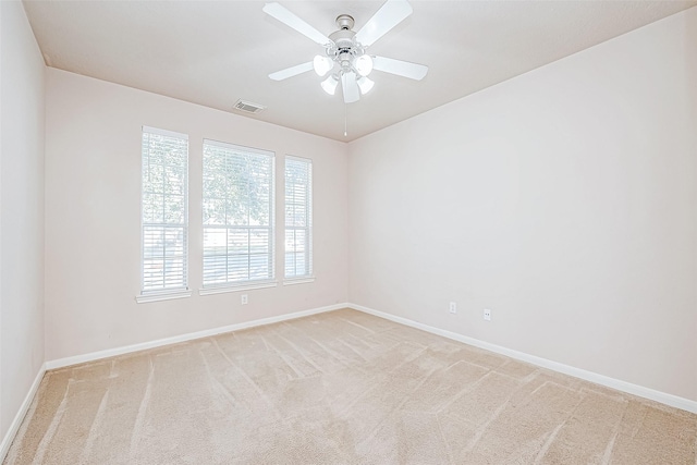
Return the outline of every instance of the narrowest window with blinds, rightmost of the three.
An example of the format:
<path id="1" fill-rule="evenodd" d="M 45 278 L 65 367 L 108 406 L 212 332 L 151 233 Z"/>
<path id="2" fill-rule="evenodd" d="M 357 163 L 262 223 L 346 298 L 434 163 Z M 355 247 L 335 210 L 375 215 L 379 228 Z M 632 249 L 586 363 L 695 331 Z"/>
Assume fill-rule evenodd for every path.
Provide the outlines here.
<path id="1" fill-rule="evenodd" d="M 313 276 L 313 162 L 285 157 L 285 278 Z"/>

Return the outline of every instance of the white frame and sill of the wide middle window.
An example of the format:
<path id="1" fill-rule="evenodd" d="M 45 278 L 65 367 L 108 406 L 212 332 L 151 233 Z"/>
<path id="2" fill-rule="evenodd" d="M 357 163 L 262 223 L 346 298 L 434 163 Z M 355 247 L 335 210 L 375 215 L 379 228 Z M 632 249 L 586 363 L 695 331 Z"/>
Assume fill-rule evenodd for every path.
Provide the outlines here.
<path id="1" fill-rule="evenodd" d="M 235 155 L 244 155 L 244 156 L 261 156 L 267 157 L 268 159 L 268 173 L 269 173 L 269 223 L 267 225 L 252 225 L 249 221 L 246 224 L 230 224 L 228 218 L 225 218 L 225 224 L 206 224 L 205 223 L 205 215 L 206 215 L 206 203 L 212 199 L 222 200 L 218 197 L 212 197 L 206 192 L 206 150 L 208 146 L 222 148 L 225 150 L 230 150 L 231 152 L 225 155 L 225 157 L 234 157 Z M 225 164 L 229 162 L 225 161 Z M 276 154 L 271 150 L 264 150 L 254 147 L 246 147 L 237 144 L 231 144 L 221 140 L 215 140 L 209 138 L 204 138 L 203 150 L 201 150 L 201 286 L 199 289 L 200 295 L 209 295 L 209 294 L 218 294 L 223 292 L 236 292 L 252 289 L 262 289 L 262 287 L 272 287 L 278 284 L 276 281 Z M 224 200 L 228 201 L 230 197 L 225 197 Z M 225 213 L 227 216 L 227 213 Z M 240 230 L 260 230 L 266 229 L 268 231 L 268 266 L 269 266 L 269 277 L 261 279 L 245 279 L 239 281 L 227 280 L 224 282 L 206 282 L 206 258 L 213 256 L 206 254 L 206 229 L 223 229 L 229 234 L 231 229 L 240 229 Z M 247 262 L 247 276 L 250 276 L 252 272 L 252 245 L 248 240 L 248 245 L 246 249 L 246 256 L 248 257 Z M 227 243 L 229 244 L 229 243 Z M 229 247 L 229 245 L 225 245 Z M 228 250 L 224 255 L 225 257 L 230 257 L 231 253 Z M 223 256 L 223 255 L 219 255 Z M 225 272 L 229 277 L 230 272 L 227 270 Z"/>

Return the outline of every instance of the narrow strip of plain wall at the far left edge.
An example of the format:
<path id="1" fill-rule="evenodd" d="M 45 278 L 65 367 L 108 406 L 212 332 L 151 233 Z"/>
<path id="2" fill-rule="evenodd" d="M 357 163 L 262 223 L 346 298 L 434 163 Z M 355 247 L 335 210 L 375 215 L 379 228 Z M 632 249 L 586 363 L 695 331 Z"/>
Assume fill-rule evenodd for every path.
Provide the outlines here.
<path id="1" fill-rule="evenodd" d="M 44 364 L 44 78 L 19 1 L 0 1 L 0 438 Z"/>

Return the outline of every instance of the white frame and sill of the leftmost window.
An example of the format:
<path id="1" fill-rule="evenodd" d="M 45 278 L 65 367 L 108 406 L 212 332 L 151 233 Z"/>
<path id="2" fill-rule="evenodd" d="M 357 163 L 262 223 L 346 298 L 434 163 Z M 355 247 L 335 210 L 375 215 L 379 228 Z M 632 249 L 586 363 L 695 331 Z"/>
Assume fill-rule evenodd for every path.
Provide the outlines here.
<path id="1" fill-rule="evenodd" d="M 183 140 L 186 145 L 186 149 L 185 149 L 185 157 L 184 157 L 184 163 L 185 167 L 183 169 L 183 185 L 182 185 L 182 191 L 183 191 L 183 206 L 184 206 L 184 211 L 183 211 L 183 223 L 172 223 L 169 224 L 167 223 L 167 221 L 163 221 L 161 223 L 154 223 L 154 222 L 148 222 L 145 219 L 145 179 L 144 179 L 144 174 L 145 174 L 145 162 L 146 162 L 146 154 L 144 150 L 145 147 L 145 137 L 146 134 L 151 134 L 151 135 L 157 135 L 157 136 L 162 136 L 162 137 L 170 137 L 170 138 L 175 138 L 175 139 L 180 139 Z M 150 160 L 150 155 L 149 155 L 149 148 L 148 147 L 148 156 L 147 156 L 147 161 L 148 161 L 148 168 L 149 168 L 149 160 Z M 166 164 L 162 163 L 162 167 L 164 167 Z M 171 299 L 171 298 L 182 298 L 182 297 L 188 297 L 192 295 L 189 285 L 188 285 L 188 278 L 189 278 L 189 273 L 188 273 L 188 262 L 189 262 L 189 249 L 188 249 L 188 238 L 189 238 L 189 228 L 188 228 L 188 194 L 189 194 L 189 188 L 188 188 L 188 168 L 189 168 L 189 140 L 188 140 L 188 135 L 187 134 L 183 134 L 183 133 L 178 133 L 174 131 L 168 131 L 168 130 L 162 130 L 162 129 L 158 129 L 158 127 L 151 127 L 151 126 L 142 126 L 142 131 L 140 131 L 140 293 L 139 295 L 136 296 L 136 302 L 137 303 L 147 303 L 147 302 L 156 302 L 156 301 L 164 301 L 164 299 Z M 164 182 L 164 179 L 163 179 Z M 168 194 L 162 194 L 163 196 L 167 196 Z M 162 206 L 164 208 L 166 206 L 166 199 L 163 199 Z M 146 277 L 145 277 L 145 267 L 146 267 L 146 228 L 148 227 L 148 224 L 150 224 L 151 227 L 161 227 L 163 229 L 167 229 L 169 225 L 173 227 L 173 228 L 181 228 L 182 229 L 182 247 L 183 247 L 183 255 L 182 255 L 182 261 L 183 261 L 183 269 L 182 269 L 182 285 L 181 286 L 175 286 L 175 287 L 167 287 L 167 286 L 162 286 L 161 289 L 146 289 Z M 166 250 L 166 249 L 163 249 Z M 167 254 L 163 253 L 163 259 L 167 260 Z M 163 270 L 163 282 L 164 282 L 164 270 Z"/>

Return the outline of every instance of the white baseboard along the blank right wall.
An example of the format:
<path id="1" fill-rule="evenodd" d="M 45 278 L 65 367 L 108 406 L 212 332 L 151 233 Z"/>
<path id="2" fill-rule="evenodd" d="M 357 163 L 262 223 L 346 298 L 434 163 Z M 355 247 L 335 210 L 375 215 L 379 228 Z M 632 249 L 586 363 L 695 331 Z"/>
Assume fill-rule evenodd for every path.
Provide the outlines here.
<path id="1" fill-rule="evenodd" d="M 356 310 L 360 310 L 366 314 L 375 315 L 376 317 L 384 318 L 401 325 L 420 329 L 420 330 L 430 332 L 432 334 L 442 335 L 443 338 L 452 339 L 454 341 L 464 342 L 465 344 L 469 344 L 476 347 L 485 348 L 487 351 L 496 352 L 497 354 L 505 355 L 511 358 L 526 362 L 528 364 L 537 365 L 542 368 L 548 368 L 554 371 L 562 372 L 564 375 L 570 375 L 575 378 L 580 378 L 586 381 L 595 382 L 596 384 L 601 384 L 608 388 L 616 389 L 617 391 L 623 391 L 629 394 L 637 395 L 639 397 L 649 399 L 651 401 L 670 405 L 671 407 L 675 407 L 675 408 L 680 408 L 683 411 L 697 414 L 697 401 L 690 401 L 689 399 L 684 399 L 677 395 L 668 394 L 665 392 L 656 391 L 650 388 L 633 384 L 631 382 L 610 378 L 604 375 L 599 375 L 592 371 L 575 368 L 570 365 L 560 364 L 559 362 L 549 360 L 547 358 L 537 357 L 535 355 L 529 355 L 523 352 L 514 351 L 512 348 L 506 348 L 501 345 L 496 345 L 485 341 L 479 341 L 478 339 L 468 338 L 466 335 L 458 334 L 456 332 L 447 331 L 447 330 L 435 328 L 417 321 L 412 321 L 407 318 L 402 318 L 391 314 L 386 314 L 384 311 L 375 310 L 372 308 L 364 307 L 363 305 L 347 304 L 347 306 L 350 308 L 354 308 Z"/>

